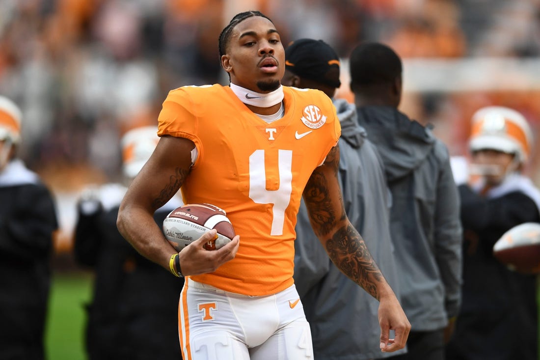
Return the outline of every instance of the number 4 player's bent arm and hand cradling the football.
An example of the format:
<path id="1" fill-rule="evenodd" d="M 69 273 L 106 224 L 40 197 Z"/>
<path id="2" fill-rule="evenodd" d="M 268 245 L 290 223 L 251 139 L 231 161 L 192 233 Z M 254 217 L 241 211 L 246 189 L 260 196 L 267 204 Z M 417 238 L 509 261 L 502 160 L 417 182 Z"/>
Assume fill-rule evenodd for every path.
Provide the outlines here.
<path id="1" fill-rule="evenodd" d="M 149 161 L 131 183 L 120 204 L 117 226 L 120 234 L 143 256 L 169 271 L 169 260 L 176 250 L 167 242 L 153 218 L 180 189 L 190 173 L 193 142 L 185 138 L 164 136 L 159 140 Z M 174 156 L 172 156 L 174 154 Z M 197 241 L 180 251 L 184 275 L 215 271 L 234 258 L 239 237 L 219 250 L 206 251 L 203 243 L 215 235 L 208 231 Z"/>

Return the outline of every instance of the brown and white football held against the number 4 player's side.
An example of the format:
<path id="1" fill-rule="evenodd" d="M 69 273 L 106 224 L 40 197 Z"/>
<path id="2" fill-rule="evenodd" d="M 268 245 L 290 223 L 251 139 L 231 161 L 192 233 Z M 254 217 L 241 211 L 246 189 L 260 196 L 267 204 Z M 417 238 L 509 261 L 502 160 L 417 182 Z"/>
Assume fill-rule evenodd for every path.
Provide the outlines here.
<path id="1" fill-rule="evenodd" d="M 206 250 L 217 250 L 235 236 L 224 210 L 211 204 L 186 204 L 171 211 L 163 221 L 163 232 L 174 249 L 180 251 L 209 230 L 217 230 Z"/>

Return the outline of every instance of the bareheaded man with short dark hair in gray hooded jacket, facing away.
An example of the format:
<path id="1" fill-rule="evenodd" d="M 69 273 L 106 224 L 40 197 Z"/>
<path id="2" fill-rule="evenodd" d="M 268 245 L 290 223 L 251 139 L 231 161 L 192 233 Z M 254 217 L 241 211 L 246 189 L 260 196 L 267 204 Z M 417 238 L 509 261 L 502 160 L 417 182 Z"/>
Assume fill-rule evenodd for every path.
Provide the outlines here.
<path id="1" fill-rule="evenodd" d="M 392 192 L 390 232 L 411 323 L 408 353 L 392 358 L 441 360 L 462 283 L 460 204 L 448 149 L 429 126 L 397 110 L 402 63 L 392 49 L 362 43 L 349 61 L 358 120 L 379 150 Z"/>

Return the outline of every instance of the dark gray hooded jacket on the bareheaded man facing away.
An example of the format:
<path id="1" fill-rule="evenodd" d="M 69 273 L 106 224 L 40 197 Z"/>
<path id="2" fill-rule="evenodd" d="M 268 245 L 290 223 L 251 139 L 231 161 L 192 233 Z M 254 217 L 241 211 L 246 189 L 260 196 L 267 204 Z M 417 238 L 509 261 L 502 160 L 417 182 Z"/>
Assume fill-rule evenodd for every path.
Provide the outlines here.
<path id="1" fill-rule="evenodd" d="M 390 229 L 411 330 L 442 329 L 461 301 L 462 229 L 448 150 L 391 106 L 361 106 L 359 124 L 382 157 L 392 192 Z"/>

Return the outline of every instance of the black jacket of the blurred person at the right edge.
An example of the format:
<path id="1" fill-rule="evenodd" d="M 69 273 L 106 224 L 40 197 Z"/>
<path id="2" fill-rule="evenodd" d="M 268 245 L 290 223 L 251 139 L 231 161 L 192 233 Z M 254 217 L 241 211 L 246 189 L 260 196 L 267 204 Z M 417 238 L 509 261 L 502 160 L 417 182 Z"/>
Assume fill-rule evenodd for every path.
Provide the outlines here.
<path id="1" fill-rule="evenodd" d="M 526 180 L 509 179 L 516 184 L 530 183 Z M 459 191 L 464 229 L 463 302 L 447 346 L 447 360 L 537 360 L 537 278 L 507 269 L 492 255 L 492 249 L 510 228 L 540 222 L 540 193 L 532 185 L 514 186 L 487 197 L 468 185 L 460 185 Z"/>

